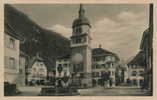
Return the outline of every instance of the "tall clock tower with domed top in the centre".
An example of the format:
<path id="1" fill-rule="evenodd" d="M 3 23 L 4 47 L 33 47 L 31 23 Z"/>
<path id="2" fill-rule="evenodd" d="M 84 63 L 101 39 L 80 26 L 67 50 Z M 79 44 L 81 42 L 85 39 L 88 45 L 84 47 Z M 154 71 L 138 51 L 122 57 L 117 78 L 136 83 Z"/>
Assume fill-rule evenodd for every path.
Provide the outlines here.
<path id="1" fill-rule="evenodd" d="M 91 76 L 91 36 L 90 22 L 85 17 L 85 10 L 80 4 L 78 18 L 72 24 L 71 64 L 72 73 L 81 79 L 82 87 L 92 86 Z"/>

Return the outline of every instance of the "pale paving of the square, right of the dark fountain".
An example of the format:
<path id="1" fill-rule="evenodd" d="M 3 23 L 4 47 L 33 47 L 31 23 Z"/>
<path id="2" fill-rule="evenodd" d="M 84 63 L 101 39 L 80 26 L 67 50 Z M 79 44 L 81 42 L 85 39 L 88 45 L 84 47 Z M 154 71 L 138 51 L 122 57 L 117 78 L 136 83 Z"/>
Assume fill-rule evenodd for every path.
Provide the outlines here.
<path id="1" fill-rule="evenodd" d="M 147 91 L 141 91 L 137 87 L 117 86 L 115 88 L 95 87 L 79 90 L 82 96 L 148 96 Z"/>

